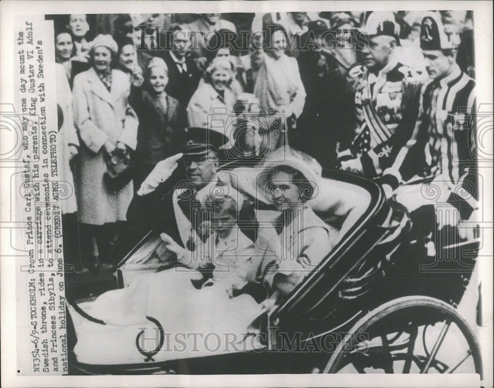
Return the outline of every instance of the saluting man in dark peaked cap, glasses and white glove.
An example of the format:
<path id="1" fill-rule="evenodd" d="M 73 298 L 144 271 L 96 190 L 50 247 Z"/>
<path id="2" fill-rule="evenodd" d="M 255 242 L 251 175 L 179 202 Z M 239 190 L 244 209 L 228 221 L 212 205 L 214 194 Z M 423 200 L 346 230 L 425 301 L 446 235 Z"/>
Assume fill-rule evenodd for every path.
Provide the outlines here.
<path id="1" fill-rule="evenodd" d="M 211 220 L 205 204 L 231 196 L 239 206 L 239 219 L 254 219 L 253 209 L 247 209 L 247 203 L 242 207 L 243 197 L 227 183 L 228 176 L 221 179 L 218 173 L 218 148 L 227 140 L 214 130 L 184 129 L 182 153 L 159 162 L 144 180 L 128 208 L 128 221 L 147 230 L 165 232 L 194 251 L 197 238 L 207 237 L 204 221 Z M 177 169 L 180 159 L 185 179 L 181 179 Z"/>

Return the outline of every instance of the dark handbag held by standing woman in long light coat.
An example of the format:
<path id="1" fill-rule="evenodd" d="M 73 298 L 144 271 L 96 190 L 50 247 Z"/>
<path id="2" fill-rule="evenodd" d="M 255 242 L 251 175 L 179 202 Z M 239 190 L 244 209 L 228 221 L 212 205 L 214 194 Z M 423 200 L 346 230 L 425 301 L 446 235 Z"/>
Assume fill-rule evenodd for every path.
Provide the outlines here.
<path id="1" fill-rule="evenodd" d="M 103 174 L 103 181 L 109 191 L 117 192 L 123 189 L 134 177 L 135 160 L 132 150 L 115 148 L 110 153 L 105 153 L 107 171 Z"/>

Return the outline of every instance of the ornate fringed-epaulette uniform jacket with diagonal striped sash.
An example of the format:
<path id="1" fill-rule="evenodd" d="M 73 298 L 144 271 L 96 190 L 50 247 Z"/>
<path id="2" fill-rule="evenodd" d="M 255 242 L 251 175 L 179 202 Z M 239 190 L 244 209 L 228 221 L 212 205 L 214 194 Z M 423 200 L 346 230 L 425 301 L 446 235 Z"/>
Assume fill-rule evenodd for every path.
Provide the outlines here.
<path id="1" fill-rule="evenodd" d="M 355 131 L 347 147 L 340 145 L 339 161 L 359 158 L 361 173 L 369 178 L 380 176 L 390 167 L 412 136 L 424 81 L 423 76 L 396 61 L 377 75 L 362 65 L 350 69 L 348 83 L 355 93 Z"/>

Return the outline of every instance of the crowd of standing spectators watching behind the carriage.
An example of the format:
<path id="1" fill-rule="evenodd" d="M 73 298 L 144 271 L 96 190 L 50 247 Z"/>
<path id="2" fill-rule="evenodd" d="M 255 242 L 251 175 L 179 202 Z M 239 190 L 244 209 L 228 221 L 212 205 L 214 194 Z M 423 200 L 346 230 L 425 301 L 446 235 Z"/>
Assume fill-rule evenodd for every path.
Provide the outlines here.
<path id="1" fill-rule="evenodd" d="M 400 40 L 394 55 L 414 74 L 426 77 L 419 42 L 423 14 L 394 12 Z M 438 15 L 445 30 L 458 35 L 457 63 L 474 78 L 472 12 Z M 255 102 L 262 114 L 282 114 L 289 145 L 328 169 L 340 165 L 338 147 L 355 136 L 358 118 L 349 72 L 362 63 L 355 39 L 365 24 L 364 12 L 46 18 L 55 27 L 63 178 L 76 188 L 76 198 L 64 207 L 65 257 L 82 263 L 78 270 L 111 261 L 105 258 L 127 228 L 132 196 L 159 161 L 178 152 L 180 130 L 207 127 L 213 108 L 236 114 L 240 98 Z M 275 28 L 267 29 L 270 25 Z M 208 36 L 210 31 L 220 36 L 231 32 L 236 44 L 213 42 L 218 36 L 194 44 L 183 34 Z M 262 36 L 255 34 L 259 31 L 268 32 L 264 43 L 273 48 L 269 52 L 261 48 Z M 287 49 L 287 40 L 295 36 L 303 45 L 311 34 L 317 40 L 326 31 L 331 31 L 334 44 Z M 162 49 L 168 32 L 170 49 Z M 93 116 L 84 117 L 89 111 Z M 243 139 L 241 148 L 252 146 L 256 135 L 262 134 Z M 133 181 L 111 191 L 101 178 L 106 158 L 129 148 L 135 151 Z"/>

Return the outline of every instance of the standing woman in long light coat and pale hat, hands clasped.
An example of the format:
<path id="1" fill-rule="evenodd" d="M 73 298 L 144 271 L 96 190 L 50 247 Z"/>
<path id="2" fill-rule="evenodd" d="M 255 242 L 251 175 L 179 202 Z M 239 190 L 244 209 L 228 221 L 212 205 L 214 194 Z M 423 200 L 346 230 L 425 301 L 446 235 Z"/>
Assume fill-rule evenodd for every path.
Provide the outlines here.
<path id="1" fill-rule="evenodd" d="M 81 164 L 77 177 L 79 216 L 84 256 L 104 256 L 115 238 L 116 223 L 125 221 L 132 199 L 132 182 L 117 191 L 105 185 L 106 158 L 116 148 L 135 149 L 137 118 L 127 101 L 130 79 L 110 64 L 117 53 L 110 35 L 98 35 L 91 43 L 91 68 L 74 79 L 74 122 L 81 138 Z M 113 236 L 113 237 L 112 237 Z M 93 248 L 93 238 L 97 253 Z"/>

